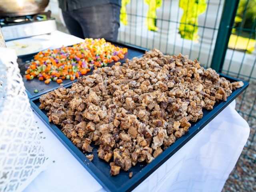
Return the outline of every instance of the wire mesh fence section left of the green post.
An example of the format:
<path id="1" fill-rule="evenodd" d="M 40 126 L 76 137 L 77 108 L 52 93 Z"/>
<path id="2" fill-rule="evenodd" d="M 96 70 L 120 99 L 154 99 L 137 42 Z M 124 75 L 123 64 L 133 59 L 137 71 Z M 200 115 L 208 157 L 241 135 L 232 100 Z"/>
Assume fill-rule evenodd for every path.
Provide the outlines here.
<path id="1" fill-rule="evenodd" d="M 128 2 L 126 12 L 121 11 L 121 18 L 127 19 L 121 20 L 120 42 L 157 48 L 166 54 L 182 53 L 210 67 L 223 0 Z"/>

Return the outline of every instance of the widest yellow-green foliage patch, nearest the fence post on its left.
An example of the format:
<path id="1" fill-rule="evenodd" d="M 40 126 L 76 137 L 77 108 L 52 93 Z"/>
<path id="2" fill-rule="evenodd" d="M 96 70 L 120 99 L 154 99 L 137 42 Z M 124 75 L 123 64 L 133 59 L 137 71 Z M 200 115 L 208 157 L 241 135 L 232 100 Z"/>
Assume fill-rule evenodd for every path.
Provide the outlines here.
<path id="1" fill-rule="evenodd" d="M 182 38 L 196 40 L 198 38 L 198 15 L 206 10 L 206 0 L 180 0 L 183 15 L 180 20 L 179 33 Z"/>

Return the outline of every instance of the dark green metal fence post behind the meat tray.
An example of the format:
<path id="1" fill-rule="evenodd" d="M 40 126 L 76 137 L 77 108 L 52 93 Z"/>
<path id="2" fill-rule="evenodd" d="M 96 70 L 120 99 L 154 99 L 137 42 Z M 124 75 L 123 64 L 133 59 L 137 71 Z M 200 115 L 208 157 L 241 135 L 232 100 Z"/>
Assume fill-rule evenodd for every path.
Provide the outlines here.
<path id="1" fill-rule="evenodd" d="M 231 35 L 232 26 L 234 24 L 236 10 L 238 8 L 238 3 L 239 0 L 225 0 L 224 3 L 211 63 L 211 68 L 216 70 L 216 72 L 221 72 L 222 70 L 226 56 L 226 50 L 228 48 L 228 41 Z"/>

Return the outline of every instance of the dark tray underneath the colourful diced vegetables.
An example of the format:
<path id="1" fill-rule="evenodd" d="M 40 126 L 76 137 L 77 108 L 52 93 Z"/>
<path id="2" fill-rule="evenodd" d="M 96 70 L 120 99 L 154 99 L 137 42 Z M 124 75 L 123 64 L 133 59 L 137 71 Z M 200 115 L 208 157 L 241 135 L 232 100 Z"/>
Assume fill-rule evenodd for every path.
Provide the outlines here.
<path id="1" fill-rule="evenodd" d="M 108 42 L 110 42 L 110 41 L 108 41 Z M 139 48 L 136 46 L 121 44 L 118 42 L 111 42 L 111 43 L 114 44 L 115 46 L 118 46 L 121 48 L 124 48 L 124 47 L 128 48 L 128 52 L 124 55 L 124 58 L 118 61 L 121 63 L 123 63 L 126 60 L 126 58 L 132 59 L 134 57 L 139 57 L 142 54 L 144 54 L 146 51 L 146 49 Z M 50 84 L 45 84 L 44 81 L 40 81 L 40 80 L 38 80 L 38 78 L 34 78 L 33 80 L 26 80 L 25 71 L 27 69 L 25 66 L 28 66 L 30 64 L 30 62 L 28 62 L 28 61 L 31 61 L 32 59 L 34 59 L 34 55 L 35 54 L 22 56 L 22 57 L 19 57 L 17 60 L 19 68 L 20 68 L 20 74 L 22 75 L 24 86 L 26 88 L 28 98 L 30 98 L 30 99 L 40 96 L 42 94 L 45 94 L 51 90 L 54 90 L 54 89 L 60 87 L 60 84 L 58 84 L 56 81 L 51 81 Z M 114 65 L 114 63 L 116 63 L 116 62 L 112 62 L 112 63 L 108 64 L 108 66 Z M 92 71 L 88 72 L 87 74 L 88 75 L 92 74 Z M 65 80 L 63 80 L 62 86 L 72 84 L 73 82 L 76 82 L 76 81 L 77 81 L 77 78 L 74 81 L 65 79 Z M 38 93 L 35 93 L 34 90 L 38 90 Z"/>

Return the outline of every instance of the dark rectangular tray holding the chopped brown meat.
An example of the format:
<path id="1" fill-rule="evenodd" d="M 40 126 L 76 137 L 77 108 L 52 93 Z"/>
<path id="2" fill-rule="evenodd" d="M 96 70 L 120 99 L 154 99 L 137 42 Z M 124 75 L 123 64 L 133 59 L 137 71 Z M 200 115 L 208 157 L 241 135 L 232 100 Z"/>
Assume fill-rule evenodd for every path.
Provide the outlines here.
<path id="1" fill-rule="evenodd" d="M 220 76 L 225 77 L 230 80 L 230 82 L 237 81 L 238 79 L 220 74 Z M 125 172 L 120 171 L 120 174 L 116 176 L 110 176 L 110 165 L 98 158 L 97 147 L 94 147 L 92 154 L 94 154 L 94 159 L 92 162 L 88 160 L 85 154 L 82 153 L 61 131 L 60 127 L 48 122 L 48 117 L 46 116 L 45 110 L 40 110 L 38 106 L 40 105 L 40 96 L 30 99 L 30 104 L 34 111 L 38 114 L 39 118 L 48 126 L 48 128 L 56 135 L 56 137 L 64 144 L 64 146 L 74 155 L 74 157 L 92 174 L 92 176 L 104 187 L 107 191 L 112 192 L 126 192 L 133 190 L 138 186 L 143 180 L 145 180 L 152 172 L 154 172 L 158 167 L 160 167 L 168 158 L 175 154 L 184 144 L 186 144 L 191 138 L 193 138 L 204 126 L 206 126 L 211 120 L 216 117 L 228 104 L 230 104 L 236 97 L 238 97 L 247 87 L 248 82 L 244 82 L 244 86 L 238 88 L 228 97 L 226 102 L 218 102 L 214 105 L 213 110 L 203 110 L 204 116 L 201 120 L 195 123 L 191 123 L 191 127 L 181 138 L 179 138 L 174 144 L 168 147 L 162 152 L 155 160 L 150 164 L 138 163 L 136 166 Z M 71 85 L 64 86 L 66 88 Z M 93 145 L 92 145 L 93 146 Z M 133 172 L 133 177 L 129 178 L 129 172 Z"/>

